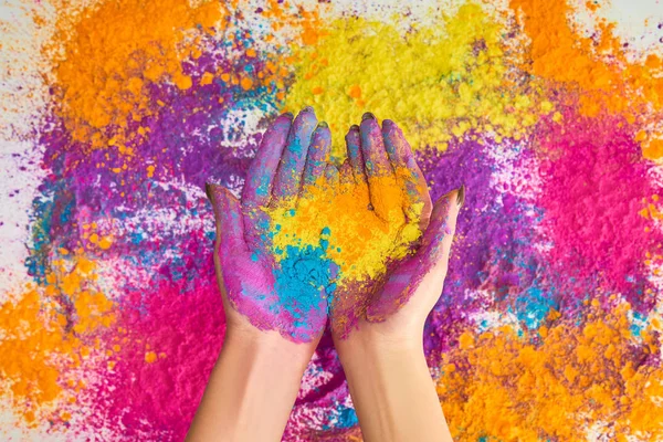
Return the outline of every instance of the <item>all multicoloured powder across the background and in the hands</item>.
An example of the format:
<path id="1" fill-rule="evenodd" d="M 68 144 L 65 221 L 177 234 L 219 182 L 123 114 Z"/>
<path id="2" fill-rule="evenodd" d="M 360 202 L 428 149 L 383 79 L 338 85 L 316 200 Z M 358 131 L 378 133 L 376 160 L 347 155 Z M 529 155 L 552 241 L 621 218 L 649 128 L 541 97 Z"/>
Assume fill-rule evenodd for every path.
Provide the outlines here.
<path id="1" fill-rule="evenodd" d="M 409 168 L 356 179 L 365 112 L 433 201 L 467 189 L 424 330 L 454 440 L 663 439 L 663 15 L 624 4 L 11 2 L 0 439 L 183 439 L 225 333 L 206 182 L 257 194 L 265 130 L 305 106 L 309 178 L 221 256 L 254 325 L 323 334 L 285 441 L 361 440 L 329 327 L 422 239 Z"/>

